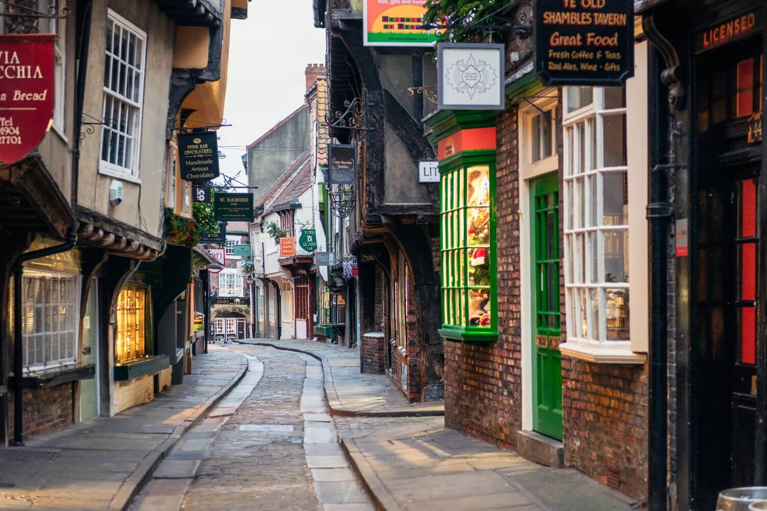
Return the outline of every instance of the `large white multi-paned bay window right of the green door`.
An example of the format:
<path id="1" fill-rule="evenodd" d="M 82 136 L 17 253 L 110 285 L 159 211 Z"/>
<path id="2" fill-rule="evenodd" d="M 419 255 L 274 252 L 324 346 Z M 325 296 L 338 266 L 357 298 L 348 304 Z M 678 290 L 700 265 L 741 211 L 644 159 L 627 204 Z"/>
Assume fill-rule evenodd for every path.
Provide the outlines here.
<path id="1" fill-rule="evenodd" d="M 641 181 L 644 175 L 646 182 L 647 160 L 628 157 L 627 90 L 565 87 L 563 94 L 561 216 L 567 340 L 560 349 L 565 355 L 591 362 L 642 363 L 645 357 L 637 353 L 642 351 L 642 342 L 634 342 L 634 336 L 646 339 L 647 331 L 634 331 L 634 326 L 647 318 L 647 264 L 644 275 L 634 274 L 637 264 L 630 266 L 629 253 L 633 258 L 642 249 L 630 251 L 629 236 L 631 232 L 646 240 L 646 233 L 640 231 L 647 231 L 641 214 L 647 204 L 643 194 L 647 187 L 637 188 L 643 192 L 631 197 L 628 190 L 632 178 Z M 646 117 L 646 103 L 633 113 L 632 122 Z M 646 122 L 640 124 L 647 126 Z M 634 126 L 635 131 L 640 129 Z M 640 139 L 638 143 L 646 142 Z M 637 205 L 630 208 L 634 200 L 640 207 L 638 215 Z M 632 320 L 637 314 L 639 320 Z"/>

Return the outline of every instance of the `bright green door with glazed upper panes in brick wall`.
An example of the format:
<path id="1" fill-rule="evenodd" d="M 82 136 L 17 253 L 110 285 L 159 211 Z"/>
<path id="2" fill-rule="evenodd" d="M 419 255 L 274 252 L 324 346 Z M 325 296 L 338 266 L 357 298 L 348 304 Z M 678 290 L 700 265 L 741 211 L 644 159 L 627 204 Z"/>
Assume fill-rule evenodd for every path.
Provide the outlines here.
<path id="1" fill-rule="evenodd" d="M 557 173 L 531 183 L 533 296 L 533 429 L 562 439 Z"/>

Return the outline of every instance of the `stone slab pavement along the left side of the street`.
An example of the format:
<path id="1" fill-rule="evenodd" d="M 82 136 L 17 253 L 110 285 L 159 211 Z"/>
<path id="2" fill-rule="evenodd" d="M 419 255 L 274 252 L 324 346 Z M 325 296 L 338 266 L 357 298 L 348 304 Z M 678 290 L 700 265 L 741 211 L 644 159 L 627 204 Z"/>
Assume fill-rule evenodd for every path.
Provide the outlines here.
<path id="1" fill-rule="evenodd" d="M 245 375 L 245 357 L 219 346 L 154 401 L 0 449 L 0 509 L 127 509 L 183 434 Z"/>

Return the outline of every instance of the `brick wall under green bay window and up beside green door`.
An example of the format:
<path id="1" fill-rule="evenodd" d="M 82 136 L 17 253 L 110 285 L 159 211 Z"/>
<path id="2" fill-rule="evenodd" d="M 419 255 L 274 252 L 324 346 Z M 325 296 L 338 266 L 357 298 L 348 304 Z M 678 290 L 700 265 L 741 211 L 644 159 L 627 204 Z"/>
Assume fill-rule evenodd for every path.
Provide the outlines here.
<path id="1" fill-rule="evenodd" d="M 445 424 L 502 447 L 522 427 L 517 109 L 498 118 L 495 171 L 499 339 L 445 341 Z"/>

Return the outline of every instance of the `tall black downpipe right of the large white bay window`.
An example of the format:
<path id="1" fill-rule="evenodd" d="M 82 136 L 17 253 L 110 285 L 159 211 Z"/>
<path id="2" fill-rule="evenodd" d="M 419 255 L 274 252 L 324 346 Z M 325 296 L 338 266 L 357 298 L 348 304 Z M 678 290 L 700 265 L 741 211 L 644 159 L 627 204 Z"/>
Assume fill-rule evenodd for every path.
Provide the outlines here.
<path id="1" fill-rule="evenodd" d="M 667 449 L 668 449 L 668 310 L 667 310 L 667 257 L 669 226 L 673 205 L 669 197 L 669 174 L 675 168 L 674 139 L 669 140 L 668 164 L 661 163 L 664 131 L 661 122 L 658 87 L 653 77 L 660 76 L 657 51 L 651 46 L 650 61 L 650 129 L 659 133 L 651 137 L 648 150 L 650 162 L 656 162 L 650 171 L 650 203 L 647 205 L 647 221 L 650 224 L 650 427 L 649 454 L 647 460 L 647 505 L 650 511 L 667 509 Z M 672 133 L 668 133 L 672 136 Z"/>

